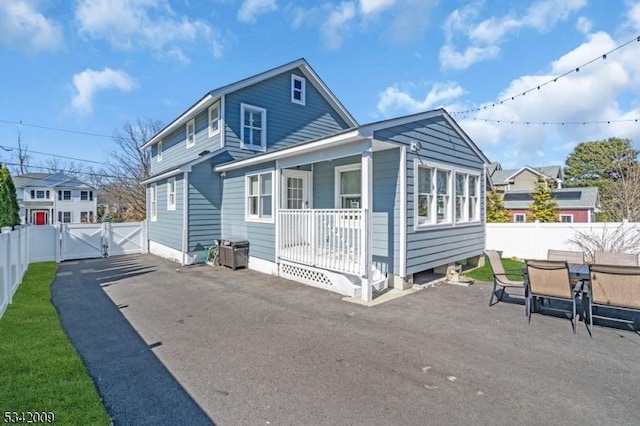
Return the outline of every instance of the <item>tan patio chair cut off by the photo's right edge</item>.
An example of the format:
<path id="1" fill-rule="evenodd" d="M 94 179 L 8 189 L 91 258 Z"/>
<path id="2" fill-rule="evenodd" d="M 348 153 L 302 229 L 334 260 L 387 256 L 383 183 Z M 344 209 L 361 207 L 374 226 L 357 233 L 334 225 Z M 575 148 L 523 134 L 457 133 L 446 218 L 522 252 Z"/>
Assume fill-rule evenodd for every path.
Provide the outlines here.
<path id="1" fill-rule="evenodd" d="M 633 320 L 594 314 L 594 310 L 609 307 L 640 312 L 640 267 L 594 264 L 589 275 L 589 332 L 593 332 L 593 318 L 634 324 Z"/>

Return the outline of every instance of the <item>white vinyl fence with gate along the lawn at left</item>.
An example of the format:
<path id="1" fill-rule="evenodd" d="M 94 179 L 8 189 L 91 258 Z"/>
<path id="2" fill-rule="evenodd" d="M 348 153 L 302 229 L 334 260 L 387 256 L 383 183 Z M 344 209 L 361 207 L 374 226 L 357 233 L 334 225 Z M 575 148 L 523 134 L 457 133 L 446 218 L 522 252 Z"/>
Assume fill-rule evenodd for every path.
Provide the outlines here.
<path id="1" fill-rule="evenodd" d="M 0 234 L 0 318 L 32 262 L 147 253 L 147 223 L 23 226 Z"/>

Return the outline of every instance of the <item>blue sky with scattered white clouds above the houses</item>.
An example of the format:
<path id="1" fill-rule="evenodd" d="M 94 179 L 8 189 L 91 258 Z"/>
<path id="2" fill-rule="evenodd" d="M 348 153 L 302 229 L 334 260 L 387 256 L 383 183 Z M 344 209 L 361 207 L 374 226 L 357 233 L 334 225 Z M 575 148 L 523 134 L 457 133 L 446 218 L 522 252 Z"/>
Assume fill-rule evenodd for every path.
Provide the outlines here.
<path id="1" fill-rule="evenodd" d="M 0 34 L 4 162 L 18 133 L 34 165 L 105 161 L 124 122 L 301 57 L 361 124 L 444 107 L 505 168 L 640 147 L 640 42 L 602 59 L 640 35 L 637 0 L 1 0 Z"/>

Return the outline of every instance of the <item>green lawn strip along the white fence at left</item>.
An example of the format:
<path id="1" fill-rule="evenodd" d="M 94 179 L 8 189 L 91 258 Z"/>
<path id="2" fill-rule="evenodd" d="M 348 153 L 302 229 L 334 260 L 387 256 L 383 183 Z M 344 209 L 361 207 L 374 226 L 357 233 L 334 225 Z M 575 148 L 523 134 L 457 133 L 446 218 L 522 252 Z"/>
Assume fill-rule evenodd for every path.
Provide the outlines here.
<path id="1" fill-rule="evenodd" d="M 53 412 L 56 423 L 109 425 L 51 304 L 56 269 L 54 262 L 31 264 L 0 319 L 0 415 L 44 411 Z"/>

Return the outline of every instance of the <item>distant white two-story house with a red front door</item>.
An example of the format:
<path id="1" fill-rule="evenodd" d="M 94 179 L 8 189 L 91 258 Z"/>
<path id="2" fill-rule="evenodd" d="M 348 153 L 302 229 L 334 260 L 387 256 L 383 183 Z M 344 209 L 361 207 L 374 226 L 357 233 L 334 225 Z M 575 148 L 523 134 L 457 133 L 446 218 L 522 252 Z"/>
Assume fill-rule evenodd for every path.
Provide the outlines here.
<path id="1" fill-rule="evenodd" d="M 13 178 L 23 224 L 92 223 L 95 188 L 64 173 L 26 173 Z"/>

